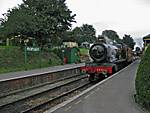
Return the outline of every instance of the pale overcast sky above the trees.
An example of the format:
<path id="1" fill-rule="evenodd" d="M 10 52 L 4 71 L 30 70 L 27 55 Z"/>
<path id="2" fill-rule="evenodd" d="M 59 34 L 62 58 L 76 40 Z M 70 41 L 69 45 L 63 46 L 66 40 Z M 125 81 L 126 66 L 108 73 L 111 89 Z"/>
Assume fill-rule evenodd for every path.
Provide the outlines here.
<path id="1" fill-rule="evenodd" d="M 0 0 L 0 17 L 21 1 Z M 92 24 L 97 34 L 112 29 L 120 37 L 140 38 L 150 33 L 150 0 L 67 0 L 67 5 L 77 15 L 74 27 Z"/>

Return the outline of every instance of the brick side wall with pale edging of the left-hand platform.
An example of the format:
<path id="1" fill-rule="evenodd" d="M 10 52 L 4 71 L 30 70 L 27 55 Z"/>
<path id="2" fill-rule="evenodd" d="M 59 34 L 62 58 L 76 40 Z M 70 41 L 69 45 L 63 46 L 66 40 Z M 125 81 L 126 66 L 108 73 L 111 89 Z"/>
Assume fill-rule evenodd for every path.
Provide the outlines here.
<path id="1" fill-rule="evenodd" d="M 64 68 L 61 66 L 58 69 L 53 68 L 54 70 L 50 71 L 43 70 L 41 73 L 35 73 L 29 76 L 24 74 L 24 76 L 10 78 L 6 81 L 3 79 L 3 81 L 0 81 L 0 97 L 22 91 L 23 89 L 36 87 L 53 80 L 80 74 L 80 67 L 82 65 L 72 65 L 72 67 L 68 65 Z"/>

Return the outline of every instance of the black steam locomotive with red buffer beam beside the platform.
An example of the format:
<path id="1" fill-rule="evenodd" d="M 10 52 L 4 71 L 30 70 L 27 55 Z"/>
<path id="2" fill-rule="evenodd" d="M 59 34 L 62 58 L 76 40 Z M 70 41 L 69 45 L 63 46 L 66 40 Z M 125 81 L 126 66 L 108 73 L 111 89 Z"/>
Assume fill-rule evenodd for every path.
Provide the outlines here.
<path id="1" fill-rule="evenodd" d="M 90 47 L 91 62 L 81 68 L 88 73 L 89 80 L 104 79 L 133 61 L 132 49 L 102 37 Z"/>

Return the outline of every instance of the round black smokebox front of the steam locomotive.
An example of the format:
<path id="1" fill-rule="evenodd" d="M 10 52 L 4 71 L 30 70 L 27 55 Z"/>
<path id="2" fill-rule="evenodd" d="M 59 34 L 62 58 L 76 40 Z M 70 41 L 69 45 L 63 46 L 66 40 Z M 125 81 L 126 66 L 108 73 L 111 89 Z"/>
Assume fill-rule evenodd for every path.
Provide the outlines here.
<path id="1" fill-rule="evenodd" d="M 94 62 L 102 62 L 107 58 L 107 47 L 105 44 L 94 44 L 91 46 L 89 54 Z"/>

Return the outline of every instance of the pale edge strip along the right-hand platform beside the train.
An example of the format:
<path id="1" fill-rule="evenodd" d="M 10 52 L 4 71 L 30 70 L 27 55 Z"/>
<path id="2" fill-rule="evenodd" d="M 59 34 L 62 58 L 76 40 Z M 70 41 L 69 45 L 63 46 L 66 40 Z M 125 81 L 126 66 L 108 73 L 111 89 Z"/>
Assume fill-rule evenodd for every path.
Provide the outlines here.
<path id="1" fill-rule="evenodd" d="M 45 111 L 44 113 L 52 113 L 52 112 L 56 111 L 57 109 L 59 109 L 59 108 L 65 106 L 65 105 L 71 103 L 71 102 L 74 101 L 75 99 L 77 99 L 77 98 L 81 97 L 82 95 L 88 93 L 89 91 L 93 90 L 93 89 L 96 88 L 97 86 L 99 86 L 99 85 L 103 84 L 104 82 L 108 81 L 109 79 L 111 79 L 111 78 L 113 78 L 113 77 L 119 75 L 119 73 L 121 73 L 122 71 L 126 70 L 128 67 L 130 67 L 131 65 L 133 65 L 133 64 L 136 63 L 136 62 L 137 62 L 137 61 L 134 61 L 132 64 L 128 65 L 127 67 L 125 67 L 124 69 L 118 71 L 117 73 L 113 74 L 112 76 L 108 77 L 107 79 L 105 79 L 105 80 L 103 80 L 103 81 L 101 81 L 101 82 L 95 84 L 94 86 L 92 86 L 92 87 L 86 89 L 85 91 L 83 91 L 83 92 L 80 93 L 79 95 L 74 96 L 74 97 L 70 98 L 69 100 L 67 100 L 67 101 L 65 101 L 65 102 L 63 102 L 63 103 L 60 103 L 60 104 L 58 104 L 58 105 L 56 105 L 56 106 L 50 108 L 49 110 Z"/>

